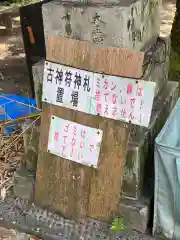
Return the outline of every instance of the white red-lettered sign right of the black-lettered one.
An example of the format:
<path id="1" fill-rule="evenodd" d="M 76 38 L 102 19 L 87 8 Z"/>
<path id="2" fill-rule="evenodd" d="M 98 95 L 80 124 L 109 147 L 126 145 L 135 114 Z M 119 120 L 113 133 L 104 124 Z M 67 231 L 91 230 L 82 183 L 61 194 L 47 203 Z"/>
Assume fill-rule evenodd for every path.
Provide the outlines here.
<path id="1" fill-rule="evenodd" d="M 94 74 L 90 113 L 148 127 L 155 83 Z"/>

